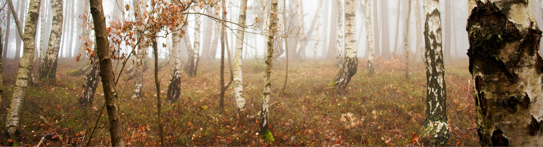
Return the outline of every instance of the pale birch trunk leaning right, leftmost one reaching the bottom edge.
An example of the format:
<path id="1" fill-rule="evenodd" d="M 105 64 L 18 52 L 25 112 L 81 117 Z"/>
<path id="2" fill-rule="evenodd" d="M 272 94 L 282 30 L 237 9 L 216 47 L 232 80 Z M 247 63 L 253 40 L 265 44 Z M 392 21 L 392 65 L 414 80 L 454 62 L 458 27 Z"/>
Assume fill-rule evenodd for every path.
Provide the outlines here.
<path id="1" fill-rule="evenodd" d="M 20 143 L 21 130 L 19 130 L 19 127 L 21 123 L 21 112 L 23 110 L 24 98 L 27 97 L 30 69 L 32 68 L 34 50 L 36 49 L 35 41 L 39 12 L 40 0 L 30 0 L 27 21 L 24 26 L 23 57 L 17 71 L 17 80 L 15 81 L 15 88 L 11 97 L 10 109 L 5 118 L 5 129 L 8 131 L 5 134 L 8 135 L 7 138 L 13 140 L 13 146 L 18 146 Z"/>

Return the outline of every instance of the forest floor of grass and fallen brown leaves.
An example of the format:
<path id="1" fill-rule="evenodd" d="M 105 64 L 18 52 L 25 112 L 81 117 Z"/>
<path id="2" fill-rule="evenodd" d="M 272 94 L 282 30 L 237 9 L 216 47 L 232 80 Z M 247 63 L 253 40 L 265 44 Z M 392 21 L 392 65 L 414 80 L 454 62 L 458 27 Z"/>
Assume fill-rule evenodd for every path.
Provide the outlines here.
<path id="1" fill-rule="evenodd" d="M 358 72 L 345 91 L 327 87 L 337 70 L 331 60 L 291 61 L 287 87 L 285 61 L 274 63 L 270 103 L 270 128 L 275 138 L 266 143 L 258 135 L 258 112 L 263 91 L 263 61 L 243 61 L 244 95 L 248 116 L 237 117 L 232 86 L 226 91 L 225 110 L 218 108 L 219 60 L 201 60 L 198 75 L 184 75 L 181 98 L 163 101 L 166 146 L 420 146 L 418 136 L 424 121 L 426 71 L 424 63 L 410 67 L 405 78 L 400 56 L 378 57 L 376 74 L 366 77 L 366 60 L 360 59 Z M 35 146 L 43 135 L 46 146 L 82 146 L 89 140 L 100 108 L 104 104 L 101 84 L 93 106 L 81 108 L 78 98 L 84 75 L 67 76 L 87 62 L 59 60 L 56 84 L 31 85 L 24 100 L 21 120 L 22 145 Z M 131 63 L 131 62 L 129 62 Z M 149 63 L 149 65 L 152 65 Z M 18 62 L 4 64 L 4 93 L 1 119 L 9 108 Z M 121 66 L 119 66 L 120 69 Z M 468 59 L 452 59 L 445 66 L 447 116 L 451 129 L 447 146 L 479 146 L 475 106 Z M 171 71 L 161 68 L 161 95 L 166 95 Z M 35 73 L 36 74 L 36 73 Z M 229 73 L 225 72 L 226 80 Z M 157 146 L 156 90 L 153 67 L 144 75 L 144 97 L 132 99 L 134 80 L 123 74 L 117 85 L 121 122 L 127 146 Z M 233 85 L 233 84 L 232 84 Z M 0 129 L 5 123 L 0 121 Z M 109 146 L 108 117 L 104 110 L 91 146 Z M 85 140 L 85 141 L 83 141 Z M 5 144 L 0 144 L 5 146 Z"/>

